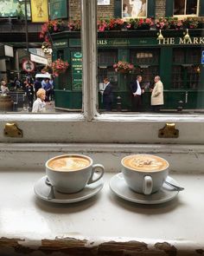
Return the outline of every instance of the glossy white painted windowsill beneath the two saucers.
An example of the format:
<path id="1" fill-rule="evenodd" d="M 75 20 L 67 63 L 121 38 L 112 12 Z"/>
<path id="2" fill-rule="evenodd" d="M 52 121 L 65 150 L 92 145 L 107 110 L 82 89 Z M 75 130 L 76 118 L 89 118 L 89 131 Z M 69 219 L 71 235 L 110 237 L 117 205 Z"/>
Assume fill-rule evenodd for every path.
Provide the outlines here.
<path id="1" fill-rule="evenodd" d="M 137 246 L 145 251 L 144 245 L 145 255 L 166 255 L 165 248 L 173 250 L 172 255 L 204 250 L 203 174 L 170 174 L 185 190 L 168 203 L 152 206 L 118 199 L 109 188 L 112 173 L 105 174 L 105 186 L 92 199 L 73 205 L 48 203 L 37 199 L 33 189 L 44 174 L 1 171 L 1 255 L 24 250 L 63 255 L 63 250 L 92 246 L 108 255 L 126 249 L 136 253 Z"/>

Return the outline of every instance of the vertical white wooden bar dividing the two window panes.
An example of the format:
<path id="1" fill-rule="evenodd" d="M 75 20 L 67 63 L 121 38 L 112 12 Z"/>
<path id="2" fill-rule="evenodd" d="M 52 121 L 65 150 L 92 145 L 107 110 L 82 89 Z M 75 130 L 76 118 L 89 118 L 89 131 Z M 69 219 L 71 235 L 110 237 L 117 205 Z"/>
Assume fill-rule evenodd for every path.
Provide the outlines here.
<path id="1" fill-rule="evenodd" d="M 83 53 L 83 112 L 86 121 L 97 115 L 97 1 L 81 1 L 81 48 Z"/>

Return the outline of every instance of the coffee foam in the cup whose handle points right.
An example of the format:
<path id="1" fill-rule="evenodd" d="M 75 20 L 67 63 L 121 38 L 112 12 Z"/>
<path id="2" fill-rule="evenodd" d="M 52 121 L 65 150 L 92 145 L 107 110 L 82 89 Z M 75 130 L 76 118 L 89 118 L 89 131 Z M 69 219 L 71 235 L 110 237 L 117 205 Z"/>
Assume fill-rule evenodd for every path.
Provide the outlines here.
<path id="1" fill-rule="evenodd" d="M 48 167 L 55 171 L 77 171 L 88 167 L 90 161 L 80 156 L 64 156 L 48 162 Z"/>

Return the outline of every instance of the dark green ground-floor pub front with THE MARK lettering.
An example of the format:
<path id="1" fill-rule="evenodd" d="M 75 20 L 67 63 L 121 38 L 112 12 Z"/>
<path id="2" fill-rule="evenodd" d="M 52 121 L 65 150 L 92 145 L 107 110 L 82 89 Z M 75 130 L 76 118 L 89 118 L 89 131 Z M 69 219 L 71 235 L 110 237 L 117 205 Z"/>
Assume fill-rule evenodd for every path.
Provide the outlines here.
<path id="1" fill-rule="evenodd" d="M 103 110 L 103 79 L 113 85 L 112 111 L 131 111 L 130 84 L 143 76 L 143 111 L 150 111 L 150 87 L 160 75 L 164 86 L 163 110 L 204 108 L 204 35 L 202 30 L 163 30 L 158 39 L 156 30 L 105 31 L 98 33 L 99 110 Z M 55 78 L 55 106 L 70 111 L 82 106 L 82 53 L 80 32 L 63 31 L 52 35 L 53 58 L 69 62 L 66 73 Z M 113 64 L 125 61 L 134 64 L 131 73 L 116 72 Z"/>

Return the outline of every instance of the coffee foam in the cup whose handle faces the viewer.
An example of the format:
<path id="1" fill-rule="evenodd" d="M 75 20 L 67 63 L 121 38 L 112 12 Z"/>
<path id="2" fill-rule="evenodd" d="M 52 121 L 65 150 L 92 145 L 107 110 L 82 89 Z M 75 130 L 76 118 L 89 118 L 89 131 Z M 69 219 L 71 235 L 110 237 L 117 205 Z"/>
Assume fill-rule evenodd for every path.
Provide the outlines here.
<path id="1" fill-rule="evenodd" d="M 150 154 L 135 154 L 124 158 L 125 167 L 143 172 L 158 171 L 166 169 L 169 164 L 163 158 Z"/>

